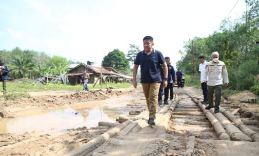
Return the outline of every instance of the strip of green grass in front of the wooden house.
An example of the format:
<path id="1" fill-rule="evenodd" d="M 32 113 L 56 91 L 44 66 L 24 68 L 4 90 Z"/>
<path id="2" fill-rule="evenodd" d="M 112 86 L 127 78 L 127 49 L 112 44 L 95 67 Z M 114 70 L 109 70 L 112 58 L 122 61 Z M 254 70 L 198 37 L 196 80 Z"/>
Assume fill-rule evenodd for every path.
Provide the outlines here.
<path id="1" fill-rule="evenodd" d="M 24 81 L 24 82 L 7 82 L 7 92 L 36 92 L 36 91 L 49 91 L 49 90 L 83 90 L 83 86 L 81 85 L 63 85 L 63 84 L 48 84 L 48 85 L 31 85 L 32 81 Z M 132 84 L 120 83 L 115 84 L 112 82 L 108 83 L 108 87 L 112 88 L 129 88 Z M 101 85 L 93 85 L 88 84 L 89 89 L 99 89 Z M 102 85 L 102 88 L 106 88 L 106 84 Z M 3 91 L 2 83 L 0 83 L 0 92 Z"/>

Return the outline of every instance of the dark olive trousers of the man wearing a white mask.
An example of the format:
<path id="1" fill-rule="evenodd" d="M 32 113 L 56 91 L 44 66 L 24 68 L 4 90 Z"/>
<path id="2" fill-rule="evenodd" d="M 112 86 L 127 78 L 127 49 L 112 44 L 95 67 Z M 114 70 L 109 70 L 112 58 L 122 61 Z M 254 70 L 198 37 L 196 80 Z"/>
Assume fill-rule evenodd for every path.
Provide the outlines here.
<path id="1" fill-rule="evenodd" d="M 220 109 L 222 85 L 208 86 L 209 106 L 213 106 L 213 94 L 215 92 L 215 109 Z"/>

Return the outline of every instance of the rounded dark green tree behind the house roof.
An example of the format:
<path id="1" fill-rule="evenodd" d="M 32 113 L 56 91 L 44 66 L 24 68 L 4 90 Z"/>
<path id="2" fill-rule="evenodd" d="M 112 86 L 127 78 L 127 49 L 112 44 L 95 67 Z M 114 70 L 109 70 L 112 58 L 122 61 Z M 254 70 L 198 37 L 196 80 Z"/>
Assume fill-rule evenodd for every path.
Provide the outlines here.
<path id="1" fill-rule="evenodd" d="M 130 67 L 129 61 L 126 59 L 125 54 L 119 49 L 114 49 L 103 59 L 104 67 L 112 67 L 120 72 L 125 73 Z"/>

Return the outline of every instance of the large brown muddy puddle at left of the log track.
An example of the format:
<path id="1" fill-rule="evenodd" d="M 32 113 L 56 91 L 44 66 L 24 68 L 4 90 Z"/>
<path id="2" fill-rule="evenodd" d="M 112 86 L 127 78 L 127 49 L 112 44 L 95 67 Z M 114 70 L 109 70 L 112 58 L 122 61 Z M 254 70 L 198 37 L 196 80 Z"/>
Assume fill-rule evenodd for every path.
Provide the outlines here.
<path id="1" fill-rule="evenodd" d="M 123 112 L 109 107 L 106 102 L 85 102 L 80 105 L 57 108 L 46 112 L 28 112 L 14 119 L 0 118 L 0 133 L 60 135 L 67 129 L 98 125 L 98 121 L 115 122 Z"/>

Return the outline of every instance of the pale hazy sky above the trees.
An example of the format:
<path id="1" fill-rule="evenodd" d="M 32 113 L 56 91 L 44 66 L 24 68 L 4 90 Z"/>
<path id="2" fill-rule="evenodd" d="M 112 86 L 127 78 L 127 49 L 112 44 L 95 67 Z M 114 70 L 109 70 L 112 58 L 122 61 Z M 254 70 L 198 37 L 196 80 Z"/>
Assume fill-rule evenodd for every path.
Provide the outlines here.
<path id="1" fill-rule="evenodd" d="M 44 51 L 81 62 L 101 63 L 115 48 L 127 54 L 129 44 L 143 49 L 142 39 L 175 65 L 183 41 L 218 30 L 236 0 L 198 1 L 0 1 L 0 49 Z M 229 17 L 246 10 L 239 1 Z"/>

